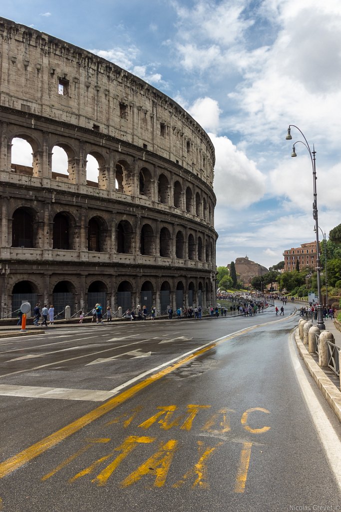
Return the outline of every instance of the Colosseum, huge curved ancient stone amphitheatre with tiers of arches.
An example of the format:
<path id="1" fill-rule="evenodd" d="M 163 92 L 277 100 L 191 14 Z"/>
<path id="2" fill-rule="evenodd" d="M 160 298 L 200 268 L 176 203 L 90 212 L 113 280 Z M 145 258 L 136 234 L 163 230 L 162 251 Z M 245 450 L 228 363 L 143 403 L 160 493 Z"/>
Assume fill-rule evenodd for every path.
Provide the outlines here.
<path id="1" fill-rule="evenodd" d="M 0 36 L 1 317 L 22 300 L 75 315 L 212 304 L 206 132 L 110 61 L 4 18 Z"/>

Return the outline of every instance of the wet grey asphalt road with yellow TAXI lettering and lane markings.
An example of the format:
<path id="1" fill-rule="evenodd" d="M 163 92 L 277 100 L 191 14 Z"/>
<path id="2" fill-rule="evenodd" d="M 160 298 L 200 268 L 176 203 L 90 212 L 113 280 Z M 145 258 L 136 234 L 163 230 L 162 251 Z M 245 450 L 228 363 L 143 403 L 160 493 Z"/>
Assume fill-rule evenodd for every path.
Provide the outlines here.
<path id="1" fill-rule="evenodd" d="M 340 424 L 285 314 L 2 339 L 0 510 L 341 509 Z"/>

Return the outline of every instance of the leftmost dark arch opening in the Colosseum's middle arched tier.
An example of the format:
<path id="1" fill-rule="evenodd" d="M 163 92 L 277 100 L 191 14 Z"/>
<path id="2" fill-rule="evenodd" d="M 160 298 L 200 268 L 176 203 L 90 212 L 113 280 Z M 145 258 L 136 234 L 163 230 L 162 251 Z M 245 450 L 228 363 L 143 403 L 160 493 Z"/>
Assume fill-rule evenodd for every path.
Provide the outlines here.
<path id="1" fill-rule="evenodd" d="M 20 206 L 12 216 L 12 247 L 36 247 L 36 212 L 27 206 Z"/>

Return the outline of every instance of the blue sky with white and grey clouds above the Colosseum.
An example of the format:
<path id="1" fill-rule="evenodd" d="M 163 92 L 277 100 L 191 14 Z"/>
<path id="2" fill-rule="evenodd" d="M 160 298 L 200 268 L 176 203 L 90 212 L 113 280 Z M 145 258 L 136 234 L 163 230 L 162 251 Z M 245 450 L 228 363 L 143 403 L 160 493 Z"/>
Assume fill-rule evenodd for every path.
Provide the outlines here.
<path id="1" fill-rule="evenodd" d="M 217 265 L 266 267 L 341 223 L 340 0 L 11 0 L 0 15 L 92 51 L 183 106 L 215 146 Z M 321 233 L 320 233 L 321 238 Z"/>

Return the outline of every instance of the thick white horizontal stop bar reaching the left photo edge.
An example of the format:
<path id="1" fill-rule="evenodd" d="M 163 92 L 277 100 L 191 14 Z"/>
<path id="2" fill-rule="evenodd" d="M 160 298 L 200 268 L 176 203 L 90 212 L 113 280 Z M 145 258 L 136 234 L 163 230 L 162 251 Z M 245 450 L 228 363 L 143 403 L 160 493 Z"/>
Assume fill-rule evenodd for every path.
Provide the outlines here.
<path id="1" fill-rule="evenodd" d="M 0 384 L 0 396 L 102 402 L 110 398 L 112 392 L 92 389 L 44 388 L 40 386 L 10 386 Z"/>

